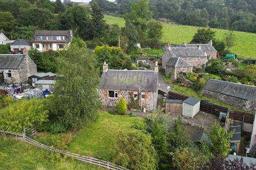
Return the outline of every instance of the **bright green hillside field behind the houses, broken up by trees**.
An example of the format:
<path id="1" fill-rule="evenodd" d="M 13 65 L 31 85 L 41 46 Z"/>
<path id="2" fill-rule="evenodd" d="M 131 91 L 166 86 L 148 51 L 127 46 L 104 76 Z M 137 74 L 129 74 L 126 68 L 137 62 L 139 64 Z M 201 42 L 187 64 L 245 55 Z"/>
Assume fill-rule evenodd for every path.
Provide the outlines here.
<path id="1" fill-rule="evenodd" d="M 125 21 L 123 18 L 118 18 L 115 16 L 105 15 L 105 21 L 108 24 L 118 24 L 119 27 L 125 26 Z M 163 23 L 163 38 L 162 41 L 165 43 L 181 44 L 184 41 L 187 43 L 193 38 L 196 30 L 199 27 L 188 26 L 188 25 L 178 25 L 178 24 L 168 24 Z M 216 38 L 223 39 L 223 35 L 227 30 L 213 29 L 216 31 Z M 239 32 L 234 31 L 236 36 L 236 45 L 231 48 L 233 53 L 238 54 L 241 58 L 256 58 L 255 53 L 255 33 Z"/>

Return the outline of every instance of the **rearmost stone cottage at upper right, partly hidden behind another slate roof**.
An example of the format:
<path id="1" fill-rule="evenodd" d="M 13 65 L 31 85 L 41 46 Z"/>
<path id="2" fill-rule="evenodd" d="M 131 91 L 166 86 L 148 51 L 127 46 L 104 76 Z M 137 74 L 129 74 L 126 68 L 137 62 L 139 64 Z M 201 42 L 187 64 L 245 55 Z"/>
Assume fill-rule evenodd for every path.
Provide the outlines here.
<path id="1" fill-rule="evenodd" d="M 212 45 L 212 40 L 208 44 L 183 44 L 183 47 L 201 47 L 203 52 L 206 53 L 207 59 L 216 59 L 217 58 L 217 50 Z"/>

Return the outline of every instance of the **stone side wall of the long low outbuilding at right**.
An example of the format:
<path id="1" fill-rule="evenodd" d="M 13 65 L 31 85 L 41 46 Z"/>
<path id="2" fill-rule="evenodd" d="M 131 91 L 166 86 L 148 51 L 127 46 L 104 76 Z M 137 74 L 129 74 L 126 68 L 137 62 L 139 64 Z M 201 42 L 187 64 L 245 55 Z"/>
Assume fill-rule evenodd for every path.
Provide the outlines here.
<path id="1" fill-rule="evenodd" d="M 206 97 L 211 97 L 211 98 L 220 100 L 223 103 L 226 103 L 230 106 L 235 106 L 252 113 L 255 113 L 256 111 L 256 100 L 253 101 L 253 100 L 239 99 L 236 97 L 231 97 L 231 96 L 219 94 L 217 92 L 208 91 L 204 89 L 202 89 L 201 92 Z"/>

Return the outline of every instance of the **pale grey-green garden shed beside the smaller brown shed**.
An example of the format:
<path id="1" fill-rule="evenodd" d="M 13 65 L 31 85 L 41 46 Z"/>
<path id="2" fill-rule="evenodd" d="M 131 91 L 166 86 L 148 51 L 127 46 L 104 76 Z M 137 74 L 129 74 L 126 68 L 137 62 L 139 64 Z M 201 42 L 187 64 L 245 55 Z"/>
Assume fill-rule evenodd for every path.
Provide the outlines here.
<path id="1" fill-rule="evenodd" d="M 193 118 L 200 110 L 200 100 L 189 97 L 183 101 L 182 115 Z"/>

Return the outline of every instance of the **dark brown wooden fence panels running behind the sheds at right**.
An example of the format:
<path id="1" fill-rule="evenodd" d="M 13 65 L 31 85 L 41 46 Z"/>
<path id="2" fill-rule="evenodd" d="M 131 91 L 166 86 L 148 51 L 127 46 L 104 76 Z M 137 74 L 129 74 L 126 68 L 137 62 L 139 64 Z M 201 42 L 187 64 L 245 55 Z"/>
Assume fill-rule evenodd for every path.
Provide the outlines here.
<path id="1" fill-rule="evenodd" d="M 187 98 L 188 98 L 188 96 L 180 95 L 180 94 L 177 94 L 172 91 L 169 91 L 168 95 L 167 95 L 167 99 L 186 100 Z M 207 100 L 201 100 L 200 111 L 219 116 L 220 112 L 228 113 L 229 108 L 222 107 L 219 105 L 214 105 L 210 101 L 207 101 Z M 243 113 L 243 112 L 239 112 L 239 111 L 230 111 L 229 118 L 236 120 L 236 121 L 242 121 L 244 123 L 249 123 L 249 124 L 253 124 L 253 121 L 254 121 L 253 114 Z"/>

